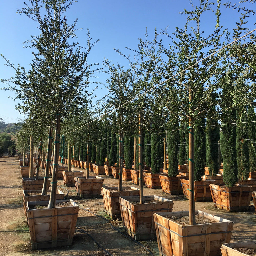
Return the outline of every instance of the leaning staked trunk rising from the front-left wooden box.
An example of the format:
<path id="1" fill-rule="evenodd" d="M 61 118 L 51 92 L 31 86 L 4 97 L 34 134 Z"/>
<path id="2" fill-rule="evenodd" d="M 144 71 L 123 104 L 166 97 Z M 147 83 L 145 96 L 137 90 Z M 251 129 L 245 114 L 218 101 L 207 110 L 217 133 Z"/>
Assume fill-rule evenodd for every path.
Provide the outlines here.
<path id="1" fill-rule="evenodd" d="M 57 182 L 58 182 L 58 166 L 59 166 L 59 151 L 60 151 L 60 114 L 56 114 L 56 126 L 54 134 L 54 161 L 51 180 L 51 193 L 48 208 L 55 207 Z"/>

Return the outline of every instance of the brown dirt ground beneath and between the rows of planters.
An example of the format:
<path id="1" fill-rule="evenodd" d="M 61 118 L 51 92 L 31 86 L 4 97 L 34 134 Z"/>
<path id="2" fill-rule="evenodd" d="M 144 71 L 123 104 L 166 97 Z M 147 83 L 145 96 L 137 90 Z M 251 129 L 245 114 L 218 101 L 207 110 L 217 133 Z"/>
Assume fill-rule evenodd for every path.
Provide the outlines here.
<path id="1" fill-rule="evenodd" d="M 90 173 L 90 176 L 92 175 Z M 44 177 L 44 171 L 40 171 L 40 176 Z M 101 177 L 104 178 L 104 186 L 118 185 L 118 180 L 113 177 L 106 175 L 101 175 Z M 131 182 L 123 182 L 123 185 L 138 187 Z M 161 189 L 143 187 L 144 195 L 158 195 L 173 200 L 173 211 L 188 210 L 188 200 L 184 199 L 183 195 L 172 196 L 163 193 Z M 141 245 L 137 244 L 134 240 L 123 236 L 117 231 L 124 233 L 121 220 L 111 221 L 95 216 L 97 214 L 107 217 L 104 213 L 102 196 L 100 198 L 81 199 L 77 197 L 75 188 L 66 188 L 62 180 L 58 181 L 58 189 L 66 195 L 66 199 L 73 199 L 80 207 L 73 244 L 53 249 L 32 250 L 23 210 L 18 158 L 6 156 L 0 158 L 0 255 L 159 255 L 156 238 L 151 241 L 138 241 Z M 195 202 L 195 209 L 232 220 L 234 227 L 231 242 L 256 239 L 256 214 L 252 202 L 247 212 L 226 212 L 214 208 L 212 202 Z M 113 229 L 111 225 L 117 230 Z"/>

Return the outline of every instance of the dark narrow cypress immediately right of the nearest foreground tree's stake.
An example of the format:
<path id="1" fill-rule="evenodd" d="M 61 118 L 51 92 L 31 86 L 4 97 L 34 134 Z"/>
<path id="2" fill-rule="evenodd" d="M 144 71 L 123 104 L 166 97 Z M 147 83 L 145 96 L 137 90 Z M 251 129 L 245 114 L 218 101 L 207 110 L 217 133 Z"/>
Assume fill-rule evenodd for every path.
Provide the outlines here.
<path id="1" fill-rule="evenodd" d="M 198 118 L 195 121 L 195 180 L 201 180 L 201 176 L 205 173 L 205 118 Z"/>

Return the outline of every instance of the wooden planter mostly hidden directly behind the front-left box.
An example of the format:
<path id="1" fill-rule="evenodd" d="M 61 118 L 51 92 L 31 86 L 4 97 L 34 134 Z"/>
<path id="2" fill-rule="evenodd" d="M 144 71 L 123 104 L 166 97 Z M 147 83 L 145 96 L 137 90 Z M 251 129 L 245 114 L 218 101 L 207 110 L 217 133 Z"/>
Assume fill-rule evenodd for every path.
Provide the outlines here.
<path id="1" fill-rule="evenodd" d="M 24 207 L 24 213 L 28 225 L 28 216 L 27 216 L 27 202 L 36 202 L 36 201 L 48 201 L 50 199 L 50 191 L 47 190 L 47 195 L 41 195 L 42 190 L 23 190 L 23 207 Z M 31 195 L 26 196 L 27 193 L 34 193 L 37 195 Z M 63 200 L 64 199 L 64 193 L 58 189 L 56 194 L 56 200 Z"/>

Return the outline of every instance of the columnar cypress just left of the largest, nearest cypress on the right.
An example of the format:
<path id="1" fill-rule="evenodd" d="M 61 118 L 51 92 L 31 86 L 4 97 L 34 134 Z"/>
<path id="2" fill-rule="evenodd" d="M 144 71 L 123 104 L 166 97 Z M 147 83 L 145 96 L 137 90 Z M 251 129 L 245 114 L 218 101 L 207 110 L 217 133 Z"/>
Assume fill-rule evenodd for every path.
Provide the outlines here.
<path id="1" fill-rule="evenodd" d="M 206 125 L 206 166 L 211 176 L 219 172 L 219 139 L 220 129 L 218 121 L 207 119 Z"/>

